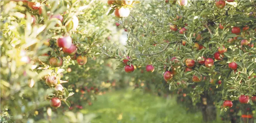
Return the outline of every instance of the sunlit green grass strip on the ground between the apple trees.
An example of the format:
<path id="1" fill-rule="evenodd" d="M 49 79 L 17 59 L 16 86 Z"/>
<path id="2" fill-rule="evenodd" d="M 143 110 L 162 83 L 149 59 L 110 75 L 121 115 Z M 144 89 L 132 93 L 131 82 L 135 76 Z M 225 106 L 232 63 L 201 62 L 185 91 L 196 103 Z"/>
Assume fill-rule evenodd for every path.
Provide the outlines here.
<path id="1" fill-rule="evenodd" d="M 201 123 L 201 112 L 187 113 L 176 97 L 165 99 L 138 90 L 123 90 L 98 96 L 82 113 L 94 113 L 91 123 Z M 215 122 L 217 123 L 217 122 Z"/>

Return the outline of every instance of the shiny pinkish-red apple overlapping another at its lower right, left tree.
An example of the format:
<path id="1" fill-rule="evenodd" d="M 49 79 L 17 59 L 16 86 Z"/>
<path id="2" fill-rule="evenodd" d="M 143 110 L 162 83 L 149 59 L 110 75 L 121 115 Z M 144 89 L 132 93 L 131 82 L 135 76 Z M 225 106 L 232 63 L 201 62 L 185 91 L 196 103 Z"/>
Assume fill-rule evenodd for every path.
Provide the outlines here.
<path id="1" fill-rule="evenodd" d="M 70 48 L 72 45 L 72 38 L 70 36 L 60 37 L 57 40 L 57 45 L 60 48 Z"/>

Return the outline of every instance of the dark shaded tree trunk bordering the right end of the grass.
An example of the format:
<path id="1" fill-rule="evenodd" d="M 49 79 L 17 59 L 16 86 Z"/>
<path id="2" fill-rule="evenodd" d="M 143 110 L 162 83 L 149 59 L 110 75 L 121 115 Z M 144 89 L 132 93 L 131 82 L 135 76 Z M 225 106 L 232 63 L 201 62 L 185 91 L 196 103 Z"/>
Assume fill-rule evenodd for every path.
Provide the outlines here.
<path id="1" fill-rule="evenodd" d="M 201 94 L 201 111 L 203 114 L 203 121 L 205 123 L 212 122 L 216 120 L 216 117 L 217 117 L 216 108 L 213 105 L 213 102 L 211 102 L 209 98 L 210 97 L 208 96 L 207 92 L 204 92 L 204 94 Z"/>

